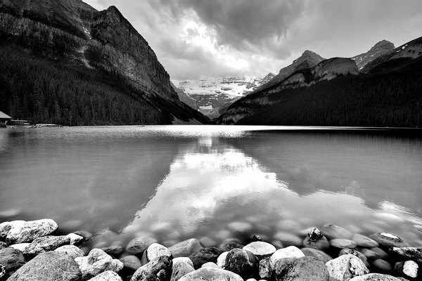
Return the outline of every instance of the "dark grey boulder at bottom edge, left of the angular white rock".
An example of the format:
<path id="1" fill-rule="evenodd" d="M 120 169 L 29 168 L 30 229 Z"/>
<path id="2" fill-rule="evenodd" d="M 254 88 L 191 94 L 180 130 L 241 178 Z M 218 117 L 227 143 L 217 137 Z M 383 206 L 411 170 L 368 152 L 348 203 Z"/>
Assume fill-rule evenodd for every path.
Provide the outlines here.
<path id="1" fill-rule="evenodd" d="M 275 281 L 328 281 L 328 271 L 324 263 L 312 256 L 281 259 L 273 270 Z"/>

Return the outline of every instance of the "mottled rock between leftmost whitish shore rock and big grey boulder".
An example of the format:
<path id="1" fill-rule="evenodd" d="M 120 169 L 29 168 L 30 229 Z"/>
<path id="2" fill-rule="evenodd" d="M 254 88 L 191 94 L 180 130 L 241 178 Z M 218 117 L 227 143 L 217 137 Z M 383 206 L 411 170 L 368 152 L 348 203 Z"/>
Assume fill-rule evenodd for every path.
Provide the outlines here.
<path id="1" fill-rule="evenodd" d="M 68 245 L 70 238 L 68 236 L 44 236 L 39 237 L 31 242 L 28 247 L 23 250 L 23 254 L 32 258 L 37 254 L 44 253 L 46 251 L 53 251 L 58 247 Z"/>

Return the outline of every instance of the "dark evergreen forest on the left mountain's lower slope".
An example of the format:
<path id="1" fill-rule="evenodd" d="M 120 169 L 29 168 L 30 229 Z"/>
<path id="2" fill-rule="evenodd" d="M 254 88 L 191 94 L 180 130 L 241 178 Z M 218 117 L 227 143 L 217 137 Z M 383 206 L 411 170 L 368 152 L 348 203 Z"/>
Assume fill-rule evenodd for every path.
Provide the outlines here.
<path id="1" fill-rule="evenodd" d="M 146 95 L 146 93 L 144 93 Z M 155 99 L 155 100 L 154 100 Z M 15 45 L 0 46 L 0 111 L 32 123 L 75 125 L 171 124 L 117 74 L 70 66 L 33 55 Z"/>

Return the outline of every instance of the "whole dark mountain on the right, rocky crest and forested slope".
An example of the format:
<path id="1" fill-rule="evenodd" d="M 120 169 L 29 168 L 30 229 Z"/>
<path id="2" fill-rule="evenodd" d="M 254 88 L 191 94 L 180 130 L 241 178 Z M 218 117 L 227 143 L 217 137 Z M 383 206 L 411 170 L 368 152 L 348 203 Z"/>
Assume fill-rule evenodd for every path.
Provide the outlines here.
<path id="1" fill-rule="evenodd" d="M 362 70 L 323 60 L 237 100 L 217 124 L 422 126 L 422 37 Z"/>

